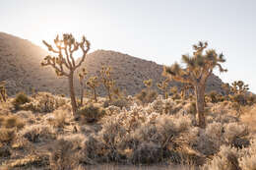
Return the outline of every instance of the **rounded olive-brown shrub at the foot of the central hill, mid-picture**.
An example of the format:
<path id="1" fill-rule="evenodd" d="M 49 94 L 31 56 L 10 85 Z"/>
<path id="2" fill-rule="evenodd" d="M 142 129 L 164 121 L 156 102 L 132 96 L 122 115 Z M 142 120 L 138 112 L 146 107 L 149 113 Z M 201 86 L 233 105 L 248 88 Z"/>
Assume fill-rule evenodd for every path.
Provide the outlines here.
<path id="1" fill-rule="evenodd" d="M 155 90 L 143 89 L 136 95 L 136 98 L 142 103 L 147 104 L 153 102 L 158 97 L 158 92 Z"/>

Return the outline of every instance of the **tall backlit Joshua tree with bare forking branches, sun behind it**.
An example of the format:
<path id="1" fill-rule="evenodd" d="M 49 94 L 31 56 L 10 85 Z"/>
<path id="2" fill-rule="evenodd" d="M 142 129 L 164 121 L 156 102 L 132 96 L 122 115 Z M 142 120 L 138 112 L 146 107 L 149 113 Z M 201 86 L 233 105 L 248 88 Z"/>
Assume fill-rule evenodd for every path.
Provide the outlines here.
<path id="1" fill-rule="evenodd" d="M 55 55 L 47 55 L 41 62 L 41 65 L 51 66 L 55 70 L 57 76 L 68 78 L 72 111 L 73 114 L 75 114 L 78 106 L 74 90 L 74 72 L 85 61 L 91 44 L 85 36 L 83 36 L 82 41 L 78 42 L 71 33 L 64 33 L 61 39 L 59 38 L 59 35 L 57 35 L 54 39 L 55 47 L 44 40 L 42 40 L 42 42 L 47 46 L 48 51 Z M 81 49 L 83 54 L 80 61 L 76 62 L 73 54 L 79 49 Z"/>

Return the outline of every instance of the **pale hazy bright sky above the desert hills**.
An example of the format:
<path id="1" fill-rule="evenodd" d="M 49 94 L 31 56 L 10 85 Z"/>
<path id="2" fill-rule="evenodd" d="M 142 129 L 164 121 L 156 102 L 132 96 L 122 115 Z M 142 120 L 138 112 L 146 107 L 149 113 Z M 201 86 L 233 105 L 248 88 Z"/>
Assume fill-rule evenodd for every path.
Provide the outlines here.
<path id="1" fill-rule="evenodd" d="M 256 92 L 256 0 L 0 0 L 0 31 L 42 45 L 58 32 L 85 34 L 96 49 L 170 65 L 207 40 L 223 52 L 224 82 Z M 92 52 L 91 51 L 91 52 Z"/>

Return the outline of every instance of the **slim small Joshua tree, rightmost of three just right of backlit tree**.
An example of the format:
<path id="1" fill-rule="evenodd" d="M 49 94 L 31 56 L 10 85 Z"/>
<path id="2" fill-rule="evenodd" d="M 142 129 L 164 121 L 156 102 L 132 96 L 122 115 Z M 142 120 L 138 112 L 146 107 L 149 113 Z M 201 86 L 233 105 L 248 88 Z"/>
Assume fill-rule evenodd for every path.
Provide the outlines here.
<path id="1" fill-rule="evenodd" d="M 100 77 L 101 77 L 102 84 L 104 85 L 107 91 L 108 99 L 111 101 L 112 100 L 111 90 L 115 84 L 114 80 L 111 78 L 111 68 L 102 66 L 100 70 Z"/>

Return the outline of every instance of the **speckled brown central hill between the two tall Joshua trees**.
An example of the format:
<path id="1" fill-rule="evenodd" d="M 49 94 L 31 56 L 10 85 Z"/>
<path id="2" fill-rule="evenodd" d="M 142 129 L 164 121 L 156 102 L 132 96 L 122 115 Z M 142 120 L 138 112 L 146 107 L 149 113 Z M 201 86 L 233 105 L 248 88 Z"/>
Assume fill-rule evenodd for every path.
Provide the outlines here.
<path id="1" fill-rule="evenodd" d="M 158 89 L 157 83 L 164 80 L 161 76 L 162 65 L 109 50 L 96 50 L 89 54 L 82 67 L 88 70 L 89 75 L 98 75 L 101 65 L 112 68 L 112 77 L 116 84 L 129 94 L 141 91 L 145 87 L 143 84 L 145 80 L 153 79 L 154 88 L 156 89 Z M 221 79 L 212 75 L 208 80 L 206 90 L 221 92 L 222 84 Z M 180 86 L 176 82 L 171 82 L 170 85 Z"/>

